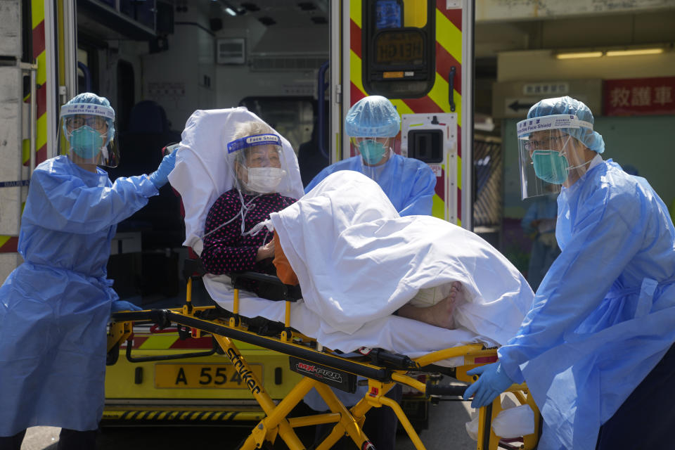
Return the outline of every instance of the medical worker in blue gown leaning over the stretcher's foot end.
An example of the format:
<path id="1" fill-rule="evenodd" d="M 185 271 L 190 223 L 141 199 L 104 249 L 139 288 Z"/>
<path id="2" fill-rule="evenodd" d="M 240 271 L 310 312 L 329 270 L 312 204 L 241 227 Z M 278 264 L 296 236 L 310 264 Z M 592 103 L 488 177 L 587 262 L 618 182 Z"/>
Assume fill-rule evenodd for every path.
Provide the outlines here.
<path id="1" fill-rule="evenodd" d="M 536 103 L 517 134 L 523 198 L 561 186 L 562 252 L 499 362 L 470 371 L 481 375 L 465 398 L 484 406 L 527 381 L 544 418 L 539 450 L 667 448 L 675 229 L 666 205 L 645 179 L 603 160 L 605 143 L 580 101 Z"/>

